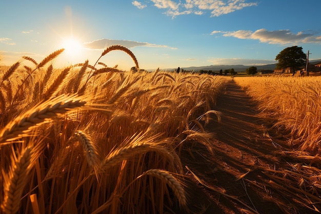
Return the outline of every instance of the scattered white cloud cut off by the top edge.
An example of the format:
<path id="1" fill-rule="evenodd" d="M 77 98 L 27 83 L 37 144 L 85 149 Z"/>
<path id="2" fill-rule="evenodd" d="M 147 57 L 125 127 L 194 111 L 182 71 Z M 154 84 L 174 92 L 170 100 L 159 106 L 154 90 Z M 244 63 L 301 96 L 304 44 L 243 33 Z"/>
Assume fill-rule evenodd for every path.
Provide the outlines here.
<path id="1" fill-rule="evenodd" d="M 242 10 L 245 7 L 256 6 L 256 2 L 246 3 L 245 0 L 185 0 L 176 3 L 172 0 L 151 0 L 153 6 L 158 9 L 165 9 L 164 14 L 175 17 L 184 14 L 203 15 L 207 11 L 211 13 L 211 17 L 232 13 L 236 10 Z M 133 5 L 142 9 L 142 4 L 134 1 Z M 147 5 L 144 5 L 144 8 Z"/>

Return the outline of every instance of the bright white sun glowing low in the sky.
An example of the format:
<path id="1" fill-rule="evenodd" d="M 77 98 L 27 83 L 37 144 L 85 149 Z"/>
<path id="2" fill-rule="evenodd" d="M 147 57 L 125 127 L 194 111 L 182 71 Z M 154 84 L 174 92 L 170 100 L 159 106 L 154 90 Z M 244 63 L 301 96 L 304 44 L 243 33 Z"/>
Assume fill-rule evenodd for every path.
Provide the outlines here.
<path id="1" fill-rule="evenodd" d="M 70 37 L 65 38 L 62 44 L 63 48 L 65 48 L 65 54 L 68 57 L 68 60 L 73 62 L 82 55 L 83 46 L 82 43 L 76 38 Z"/>

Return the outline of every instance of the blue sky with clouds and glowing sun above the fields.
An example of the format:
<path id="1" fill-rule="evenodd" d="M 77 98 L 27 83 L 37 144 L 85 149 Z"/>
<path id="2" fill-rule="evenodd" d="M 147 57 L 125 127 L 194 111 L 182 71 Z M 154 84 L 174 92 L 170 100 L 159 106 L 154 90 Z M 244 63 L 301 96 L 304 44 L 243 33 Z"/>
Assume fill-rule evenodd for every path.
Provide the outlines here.
<path id="1" fill-rule="evenodd" d="M 94 64 L 123 45 L 145 69 L 276 63 L 286 47 L 321 59 L 319 0 L 0 1 L 0 64 L 27 55 L 41 61 L 66 48 L 57 66 Z M 71 48 L 70 48 L 71 46 Z M 112 51 L 101 62 L 121 69 L 130 56 Z"/>

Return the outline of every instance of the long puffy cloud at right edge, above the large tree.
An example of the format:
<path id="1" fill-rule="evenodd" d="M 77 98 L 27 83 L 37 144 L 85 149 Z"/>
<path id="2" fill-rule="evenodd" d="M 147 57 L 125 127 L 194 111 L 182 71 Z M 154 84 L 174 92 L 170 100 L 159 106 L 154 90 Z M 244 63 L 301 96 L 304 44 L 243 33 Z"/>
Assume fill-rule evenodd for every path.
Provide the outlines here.
<path id="1" fill-rule="evenodd" d="M 305 33 L 300 31 L 293 33 L 290 30 L 274 30 L 268 31 L 267 29 L 251 30 L 238 30 L 238 31 L 212 31 L 213 34 L 222 33 L 223 36 L 233 36 L 241 39 L 259 40 L 262 43 L 268 44 L 299 44 L 299 43 L 317 43 L 321 44 L 321 35 L 317 32 Z"/>

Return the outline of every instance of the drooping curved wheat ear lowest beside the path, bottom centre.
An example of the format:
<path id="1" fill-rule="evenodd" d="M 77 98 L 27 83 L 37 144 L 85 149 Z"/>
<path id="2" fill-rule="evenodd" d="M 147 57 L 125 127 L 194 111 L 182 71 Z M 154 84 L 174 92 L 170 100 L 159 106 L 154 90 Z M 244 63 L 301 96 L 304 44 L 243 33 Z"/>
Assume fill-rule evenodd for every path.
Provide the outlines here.
<path id="1" fill-rule="evenodd" d="M 160 180 L 164 181 L 164 183 L 168 184 L 168 186 L 174 191 L 175 196 L 179 201 L 179 205 L 186 208 L 186 196 L 185 191 L 182 185 L 175 179 L 172 174 L 168 171 L 160 170 L 160 169 L 150 169 L 144 172 L 141 176 L 153 176 L 159 178 Z"/>

